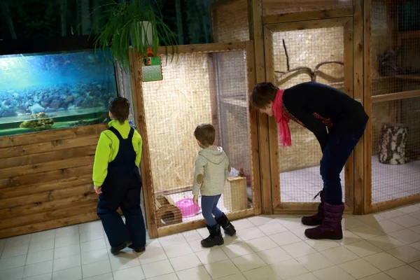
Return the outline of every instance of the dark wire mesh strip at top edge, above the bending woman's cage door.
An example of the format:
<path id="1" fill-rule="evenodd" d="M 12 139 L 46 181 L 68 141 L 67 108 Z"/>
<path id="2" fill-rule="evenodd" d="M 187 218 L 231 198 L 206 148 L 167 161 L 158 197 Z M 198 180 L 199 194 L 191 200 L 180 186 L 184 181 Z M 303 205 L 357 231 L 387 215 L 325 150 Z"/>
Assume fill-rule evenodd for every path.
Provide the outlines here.
<path id="1" fill-rule="evenodd" d="M 353 0 L 262 0 L 262 15 L 352 7 Z"/>

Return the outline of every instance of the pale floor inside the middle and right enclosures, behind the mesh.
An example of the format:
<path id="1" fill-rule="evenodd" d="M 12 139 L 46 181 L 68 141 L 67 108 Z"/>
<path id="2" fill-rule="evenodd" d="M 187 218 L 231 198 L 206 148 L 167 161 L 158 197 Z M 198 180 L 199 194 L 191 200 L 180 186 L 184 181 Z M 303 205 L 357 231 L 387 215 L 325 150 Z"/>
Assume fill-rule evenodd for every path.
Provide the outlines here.
<path id="1" fill-rule="evenodd" d="M 344 172 L 341 174 L 344 200 Z M 404 165 L 384 165 L 372 157 L 372 202 L 386 202 L 420 193 L 420 160 Z M 280 174 L 281 202 L 312 202 L 323 188 L 319 167 Z M 319 201 L 319 197 L 316 201 Z"/>

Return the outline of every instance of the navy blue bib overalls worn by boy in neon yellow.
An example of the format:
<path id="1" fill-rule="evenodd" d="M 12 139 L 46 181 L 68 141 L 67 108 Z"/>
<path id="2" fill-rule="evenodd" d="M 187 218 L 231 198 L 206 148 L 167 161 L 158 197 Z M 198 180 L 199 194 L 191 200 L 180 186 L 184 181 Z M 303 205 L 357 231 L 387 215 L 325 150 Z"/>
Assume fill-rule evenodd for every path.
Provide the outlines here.
<path id="1" fill-rule="evenodd" d="M 109 162 L 102 194 L 99 195 L 97 215 L 112 247 L 131 240 L 130 247 L 137 248 L 146 245 L 146 227 L 140 208 L 142 181 L 139 168 L 135 165 L 136 152 L 132 144 L 134 129 L 131 128 L 127 139 L 123 139 L 116 128 L 109 127 L 109 130 L 118 137 L 120 148 L 116 158 Z M 125 224 L 117 213 L 118 207 L 123 211 Z"/>

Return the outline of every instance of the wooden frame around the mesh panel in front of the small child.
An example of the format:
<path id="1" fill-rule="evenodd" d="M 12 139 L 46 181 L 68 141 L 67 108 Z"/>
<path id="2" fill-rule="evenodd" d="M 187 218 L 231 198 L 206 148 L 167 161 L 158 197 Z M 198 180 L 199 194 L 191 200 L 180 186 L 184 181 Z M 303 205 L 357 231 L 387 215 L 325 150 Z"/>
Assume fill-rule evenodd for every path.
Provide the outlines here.
<path id="1" fill-rule="evenodd" d="M 253 54 L 253 42 L 237 42 L 237 43 L 211 43 L 201 45 L 179 45 L 178 53 L 214 53 L 214 52 L 229 52 L 233 50 L 246 50 L 247 59 L 247 78 L 248 88 L 252 88 L 255 84 L 254 80 L 254 54 Z M 158 52 L 164 52 L 165 48 L 160 48 Z M 171 59 L 172 57 L 169 57 Z M 176 57 L 174 57 L 176 59 Z M 137 123 L 139 132 L 143 138 L 143 155 L 141 160 L 141 175 L 143 177 L 143 191 L 145 198 L 146 207 L 146 223 L 151 238 L 163 237 L 165 235 L 172 235 L 175 233 L 183 232 L 186 230 L 193 230 L 200 228 L 205 225 L 204 220 L 190 221 L 186 223 L 179 223 L 176 225 L 168 225 L 162 228 L 158 228 L 157 216 L 155 214 L 155 192 L 153 188 L 153 176 L 151 169 L 151 158 L 148 148 L 148 130 L 146 126 L 146 112 L 144 109 L 143 89 L 142 83 L 139 76 L 139 58 L 137 53 L 130 51 L 130 63 L 132 69 L 132 83 L 134 88 L 134 99 L 137 109 Z M 176 63 L 176 62 L 173 62 Z M 164 73 L 165 75 L 165 73 Z M 165 76 L 164 76 L 165 81 Z M 246 105 L 248 106 L 248 105 Z M 214 112 L 213 112 L 214 113 Z M 253 188 L 253 208 L 242 211 L 235 211 L 227 216 L 235 220 L 237 218 L 245 218 L 248 216 L 261 214 L 261 198 L 260 198 L 260 163 L 258 154 L 258 132 L 257 132 L 257 120 L 256 111 L 251 110 L 249 113 L 248 128 L 249 128 L 249 141 L 251 144 L 251 172 L 252 172 L 252 183 Z M 189 190 L 190 186 L 179 188 L 178 191 Z M 162 194 L 170 194 L 170 191 L 162 191 Z"/>

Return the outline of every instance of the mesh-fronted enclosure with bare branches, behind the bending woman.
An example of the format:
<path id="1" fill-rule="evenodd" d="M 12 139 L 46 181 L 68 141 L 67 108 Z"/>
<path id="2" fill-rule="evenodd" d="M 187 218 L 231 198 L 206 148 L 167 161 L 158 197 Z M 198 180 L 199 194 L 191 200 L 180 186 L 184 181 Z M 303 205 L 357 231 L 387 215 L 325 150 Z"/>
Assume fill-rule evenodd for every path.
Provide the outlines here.
<path id="1" fill-rule="evenodd" d="M 277 87 L 288 88 L 313 80 L 352 94 L 351 18 L 265 25 L 264 36 L 267 80 Z M 282 148 L 277 129 L 271 135 L 272 160 L 276 160 L 273 170 L 278 170 L 272 174 L 276 178 L 273 197 L 279 197 L 276 203 L 280 208 L 287 209 L 293 204 L 310 207 L 308 203 L 323 188 L 319 175 L 321 148 L 306 128 L 293 121 L 289 127 L 291 147 Z M 353 174 L 347 172 L 347 176 Z M 341 178 L 345 200 L 351 186 L 345 187 L 344 170 Z M 346 181 L 352 180 L 346 178 Z"/>

